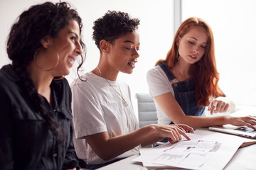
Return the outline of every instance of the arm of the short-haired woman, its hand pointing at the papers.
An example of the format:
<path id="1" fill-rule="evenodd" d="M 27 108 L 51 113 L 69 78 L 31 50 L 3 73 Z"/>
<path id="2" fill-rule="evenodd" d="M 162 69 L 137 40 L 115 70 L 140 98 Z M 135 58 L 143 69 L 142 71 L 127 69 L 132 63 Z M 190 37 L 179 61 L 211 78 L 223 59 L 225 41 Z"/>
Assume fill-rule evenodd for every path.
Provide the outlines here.
<path id="1" fill-rule="evenodd" d="M 138 145 L 151 145 L 164 137 L 169 137 L 171 142 L 181 140 L 181 135 L 190 140 L 186 131 L 193 132 L 187 125 L 146 125 L 139 130 L 130 132 L 127 135 L 111 137 L 107 132 L 100 132 L 94 135 L 85 136 L 85 140 L 92 147 L 93 151 L 102 159 L 110 160 L 119 154 L 127 152 Z"/>

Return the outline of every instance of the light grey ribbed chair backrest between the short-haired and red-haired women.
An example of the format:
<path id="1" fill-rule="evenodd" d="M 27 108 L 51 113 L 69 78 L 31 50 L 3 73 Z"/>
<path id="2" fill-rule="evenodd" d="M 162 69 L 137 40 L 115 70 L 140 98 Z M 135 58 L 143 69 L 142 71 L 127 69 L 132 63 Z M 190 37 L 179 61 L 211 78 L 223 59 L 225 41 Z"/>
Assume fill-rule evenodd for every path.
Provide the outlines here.
<path id="1" fill-rule="evenodd" d="M 139 128 L 144 125 L 157 123 L 156 107 L 149 94 L 136 94 L 138 101 Z"/>

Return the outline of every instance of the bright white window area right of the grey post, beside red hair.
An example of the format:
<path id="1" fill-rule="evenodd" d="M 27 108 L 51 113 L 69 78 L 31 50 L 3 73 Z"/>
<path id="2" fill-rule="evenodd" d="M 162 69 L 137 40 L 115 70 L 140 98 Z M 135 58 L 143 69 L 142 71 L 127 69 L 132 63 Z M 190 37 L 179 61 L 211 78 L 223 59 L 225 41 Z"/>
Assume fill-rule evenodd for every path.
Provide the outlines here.
<path id="1" fill-rule="evenodd" d="M 220 89 L 237 104 L 256 106 L 256 1 L 182 0 L 182 21 L 203 18 L 212 28 Z"/>

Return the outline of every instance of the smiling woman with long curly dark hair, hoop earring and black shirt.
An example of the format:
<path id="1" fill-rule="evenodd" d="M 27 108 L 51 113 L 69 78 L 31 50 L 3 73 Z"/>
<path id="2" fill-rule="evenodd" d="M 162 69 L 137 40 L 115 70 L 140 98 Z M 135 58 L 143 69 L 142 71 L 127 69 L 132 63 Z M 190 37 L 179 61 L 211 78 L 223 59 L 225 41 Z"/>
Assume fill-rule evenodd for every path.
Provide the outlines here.
<path id="1" fill-rule="evenodd" d="M 31 6 L 11 27 L 12 64 L 0 70 L 1 169 L 78 166 L 71 91 L 63 76 L 82 57 L 81 28 L 77 11 L 64 2 Z"/>

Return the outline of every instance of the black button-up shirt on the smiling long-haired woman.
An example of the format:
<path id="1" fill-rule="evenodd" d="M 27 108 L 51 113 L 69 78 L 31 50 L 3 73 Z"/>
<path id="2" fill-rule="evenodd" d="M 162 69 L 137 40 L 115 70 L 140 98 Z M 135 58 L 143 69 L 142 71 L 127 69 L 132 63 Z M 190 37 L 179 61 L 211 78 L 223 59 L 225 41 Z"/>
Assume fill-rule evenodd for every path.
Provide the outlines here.
<path id="1" fill-rule="evenodd" d="M 50 84 L 48 113 L 60 123 L 65 142 L 58 143 L 49 125 L 35 113 L 11 64 L 0 70 L 0 169 L 73 169 L 71 91 L 66 79 Z"/>

